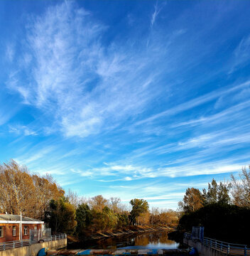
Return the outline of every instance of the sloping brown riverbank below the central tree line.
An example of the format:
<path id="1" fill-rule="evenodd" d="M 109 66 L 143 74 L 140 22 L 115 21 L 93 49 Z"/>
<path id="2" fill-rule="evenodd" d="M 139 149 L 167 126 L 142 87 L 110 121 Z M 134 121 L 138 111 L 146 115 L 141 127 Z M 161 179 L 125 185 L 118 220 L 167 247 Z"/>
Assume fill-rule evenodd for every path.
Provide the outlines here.
<path id="1" fill-rule="evenodd" d="M 107 231 L 107 232 L 97 232 L 94 234 L 86 234 L 84 241 L 90 241 L 90 240 L 100 240 L 104 238 L 114 238 L 119 237 L 121 235 L 132 235 L 132 234 L 138 234 L 138 233 L 148 233 L 148 232 L 155 232 L 155 231 L 161 231 L 165 230 L 168 232 L 172 232 L 175 230 L 173 227 L 168 227 L 164 225 L 131 225 L 126 228 L 121 228 L 116 231 Z M 75 238 L 72 235 L 67 235 L 68 243 L 75 243 L 75 242 L 82 242 L 81 240 Z"/>

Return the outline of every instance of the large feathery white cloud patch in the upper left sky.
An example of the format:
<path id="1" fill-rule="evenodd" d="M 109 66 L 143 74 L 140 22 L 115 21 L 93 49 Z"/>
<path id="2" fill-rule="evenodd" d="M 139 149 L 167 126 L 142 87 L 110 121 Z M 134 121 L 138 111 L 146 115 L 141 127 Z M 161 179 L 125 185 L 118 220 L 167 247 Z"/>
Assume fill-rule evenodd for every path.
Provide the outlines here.
<path id="1" fill-rule="evenodd" d="M 103 46 L 107 29 L 72 3 L 49 8 L 28 28 L 23 55 L 30 61 L 10 76 L 9 88 L 52 117 L 66 137 L 112 129 L 161 92 L 151 86 L 150 55 L 129 45 Z M 26 85 L 19 75 L 26 75 Z"/>

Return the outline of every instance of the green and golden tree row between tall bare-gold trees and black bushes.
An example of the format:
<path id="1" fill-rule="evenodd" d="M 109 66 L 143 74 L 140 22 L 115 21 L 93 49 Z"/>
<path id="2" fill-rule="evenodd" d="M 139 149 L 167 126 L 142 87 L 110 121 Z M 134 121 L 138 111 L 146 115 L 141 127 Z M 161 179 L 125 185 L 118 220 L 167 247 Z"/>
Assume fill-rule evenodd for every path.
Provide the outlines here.
<path id="1" fill-rule="evenodd" d="M 73 195 L 73 197 L 72 197 Z M 75 193 L 68 193 L 57 201 L 50 201 L 50 209 L 45 222 L 55 233 L 67 233 L 85 239 L 93 233 L 105 233 L 131 225 L 168 225 L 176 226 L 177 213 L 174 210 L 149 210 L 148 202 L 132 199 L 131 209 L 121 203 L 120 198 L 106 199 L 102 195 L 73 204 Z"/>

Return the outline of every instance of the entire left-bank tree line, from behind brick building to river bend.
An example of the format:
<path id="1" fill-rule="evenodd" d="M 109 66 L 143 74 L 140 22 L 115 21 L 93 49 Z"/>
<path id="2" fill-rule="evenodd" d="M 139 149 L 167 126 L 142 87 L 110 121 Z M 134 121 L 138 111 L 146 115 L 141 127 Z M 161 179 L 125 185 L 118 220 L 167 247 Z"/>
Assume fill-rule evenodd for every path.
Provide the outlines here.
<path id="1" fill-rule="evenodd" d="M 52 176 L 31 174 L 16 161 L 0 165 L 0 213 L 26 215 L 44 220 L 53 233 L 86 235 L 120 230 L 129 225 L 176 225 L 173 210 L 149 210 L 148 202 L 134 198 L 130 206 L 120 198 L 92 198 L 65 191 Z"/>

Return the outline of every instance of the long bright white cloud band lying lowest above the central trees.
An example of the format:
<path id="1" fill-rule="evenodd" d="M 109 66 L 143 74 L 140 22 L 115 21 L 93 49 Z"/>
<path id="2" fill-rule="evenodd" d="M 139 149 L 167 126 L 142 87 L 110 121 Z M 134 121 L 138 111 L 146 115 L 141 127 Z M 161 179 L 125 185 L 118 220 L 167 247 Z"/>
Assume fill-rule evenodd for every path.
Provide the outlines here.
<path id="1" fill-rule="evenodd" d="M 165 164 L 165 167 L 152 166 L 146 168 L 144 166 L 130 166 L 129 171 L 126 166 L 119 166 L 119 169 L 114 166 L 100 167 L 94 169 L 87 169 L 87 171 L 78 171 L 80 176 L 88 176 L 89 178 L 97 179 L 98 181 L 114 182 L 114 181 L 132 181 L 141 180 L 144 178 L 158 178 L 158 177 L 183 177 L 183 176 L 199 176 L 199 175 L 212 175 L 232 173 L 239 171 L 242 164 L 233 164 L 233 159 L 227 161 L 211 161 L 210 163 L 195 163 L 190 159 L 188 164 L 178 163 L 173 161 L 170 166 Z M 75 172 L 75 171 L 74 171 Z M 112 180 L 100 180 L 100 177 L 114 176 Z M 148 188 L 148 186 L 147 186 Z"/>

